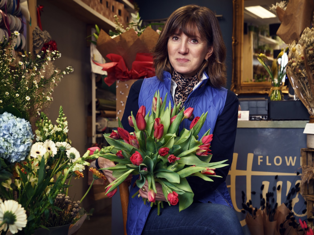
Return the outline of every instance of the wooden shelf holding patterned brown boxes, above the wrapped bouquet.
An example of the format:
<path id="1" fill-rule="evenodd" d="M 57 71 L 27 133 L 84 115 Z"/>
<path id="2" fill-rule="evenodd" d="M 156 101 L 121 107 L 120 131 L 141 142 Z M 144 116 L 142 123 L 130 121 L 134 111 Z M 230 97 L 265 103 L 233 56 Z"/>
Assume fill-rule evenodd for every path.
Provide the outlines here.
<path id="1" fill-rule="evenodd" d="M 116 24 L 108 18 L 104 17 L 94 9 L 80 0 L 49 0 L 58 8 L 72 14 L 74 17 L 84 21 L 87 24 L 97 24 L 100 29 L 108 32 L 110 29 L 114 30 Z M 125 0 L 127 1 L 127 0 Z"/>

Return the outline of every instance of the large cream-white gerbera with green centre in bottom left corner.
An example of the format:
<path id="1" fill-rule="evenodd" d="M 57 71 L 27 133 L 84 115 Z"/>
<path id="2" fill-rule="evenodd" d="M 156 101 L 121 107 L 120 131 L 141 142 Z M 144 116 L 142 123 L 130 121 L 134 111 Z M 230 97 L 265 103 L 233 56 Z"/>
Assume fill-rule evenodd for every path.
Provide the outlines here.
<path id="1" fill-rule="evenodd" d="M 24 207 L 17 201 L 8 200 L 0 203 L 0 221 L 3 221 L 3 230 L 10 229 L 11 233 L 17 233 L 18 230 L 26 227 L 27 216 Z"/>

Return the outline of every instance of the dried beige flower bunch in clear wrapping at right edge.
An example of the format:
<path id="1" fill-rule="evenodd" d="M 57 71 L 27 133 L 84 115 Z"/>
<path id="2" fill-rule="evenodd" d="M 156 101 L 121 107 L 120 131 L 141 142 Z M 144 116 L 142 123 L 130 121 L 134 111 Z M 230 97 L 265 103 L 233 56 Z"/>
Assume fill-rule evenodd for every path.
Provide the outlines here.
<path id="1" fill-rule="evenodd" d="M 298 97 L 314 115 L 314 28 L 306 28 L 299 40 L 289 45 L 287 74 Z"/>

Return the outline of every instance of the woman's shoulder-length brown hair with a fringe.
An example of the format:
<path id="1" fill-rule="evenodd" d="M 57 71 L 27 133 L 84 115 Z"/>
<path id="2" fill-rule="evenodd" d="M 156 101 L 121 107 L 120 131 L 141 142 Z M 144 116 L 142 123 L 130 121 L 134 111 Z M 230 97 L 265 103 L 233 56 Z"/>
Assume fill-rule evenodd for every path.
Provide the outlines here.
<path id="1" fill-rule="evenodd" d="M 204 60 L 200 66 L 198 80 L 201 79 L 203 71 L 206 71 L 210 86 L 215 88 L 226 86 L 226 47 L 219 22 L 214 12 L 207 7 L 200 7 L 195 4 L 178 8 L 165 23 L 165 27 L 152 50 L 158 79 L 162 80 L 163 71 L 172 73 L 173 68 L 169 61 L 167 44 L 169 37 L 174 34 L 180 35 L 182 32 L 188 37 L 196 37 L 199 33 L 202 39 L 206 39 L 208 46 L 213 47 L 213 54 L 208 58 L 208 61 Z"/>

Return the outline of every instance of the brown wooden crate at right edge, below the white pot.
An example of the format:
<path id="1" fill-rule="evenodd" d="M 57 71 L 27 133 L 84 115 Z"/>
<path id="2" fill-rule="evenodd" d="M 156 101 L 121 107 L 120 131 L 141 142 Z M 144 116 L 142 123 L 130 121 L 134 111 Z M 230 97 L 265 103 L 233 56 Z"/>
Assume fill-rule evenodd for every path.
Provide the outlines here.
<path id="1" fill-rule="evenodd" d="M 314 149 L 301 149 L 302 165 L 312 165 L 314 163 Z M 302 196 L 307 202 L 306 211 L 307 218 L 313 216 L 313 202 L 314 202 L 314 180 L 310 180 L 309 183 L 301 185 Z M 311 222 L 313 224 L 313 222 Z"/>

